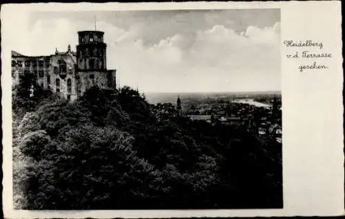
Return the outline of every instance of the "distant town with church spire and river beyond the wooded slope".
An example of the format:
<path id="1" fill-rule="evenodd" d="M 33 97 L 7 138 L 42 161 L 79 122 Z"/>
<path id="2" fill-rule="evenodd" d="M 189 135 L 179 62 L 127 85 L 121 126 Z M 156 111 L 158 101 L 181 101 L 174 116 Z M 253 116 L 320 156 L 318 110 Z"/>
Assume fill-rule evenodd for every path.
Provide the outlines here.
<path id="1" fill-rule="evenodd" d="M 180 116 L 192 121 L 205 121 L 211 125 L 245 126 L 259 138 L 272 138 L 282 143 L 282 99 L 281 96 L 262 95 L 260 98 L 189 98 L 177 103 L 157 103 L 152 105 L 159 118 Z"/>

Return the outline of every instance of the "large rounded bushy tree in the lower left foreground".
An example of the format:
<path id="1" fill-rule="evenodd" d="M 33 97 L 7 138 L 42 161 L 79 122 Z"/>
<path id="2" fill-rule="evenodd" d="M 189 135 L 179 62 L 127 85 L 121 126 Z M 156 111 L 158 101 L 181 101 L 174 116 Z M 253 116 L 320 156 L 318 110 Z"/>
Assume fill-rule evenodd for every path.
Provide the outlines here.
<path id="1" fill-rule="evenodd" d="M 41 202 L 42 209 L 53 207 L 52 202 L 58 209 L 112 209 L 145 198 L 142 196 L 146 189 L 152 189 L 155 171 L 137 157 L 131 146 L 133 140 L 115 127 L 70 129 L 66 142 L 57 146 L 57 154 L 51 157 L 53 165 L 48 171 L 53 171 L 51 176 L 55 178 L 50 186 L 55 187 L 60 198 L 50 196 L 51 200 Z"/>

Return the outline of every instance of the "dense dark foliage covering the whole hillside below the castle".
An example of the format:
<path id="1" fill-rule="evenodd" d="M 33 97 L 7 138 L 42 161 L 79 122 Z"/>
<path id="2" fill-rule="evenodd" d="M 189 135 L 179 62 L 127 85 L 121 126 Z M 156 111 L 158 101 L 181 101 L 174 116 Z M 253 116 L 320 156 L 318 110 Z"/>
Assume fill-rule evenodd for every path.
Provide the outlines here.
<path id="1" fill-rule="evenodd" d="M 21 209 L 282 207 L 282 147 L 244 127 L 157 118 L 130 87 L 74 103 L 13 90 L 14 200 Z M 31 88 L 30 88 L 31 87 Z"/>

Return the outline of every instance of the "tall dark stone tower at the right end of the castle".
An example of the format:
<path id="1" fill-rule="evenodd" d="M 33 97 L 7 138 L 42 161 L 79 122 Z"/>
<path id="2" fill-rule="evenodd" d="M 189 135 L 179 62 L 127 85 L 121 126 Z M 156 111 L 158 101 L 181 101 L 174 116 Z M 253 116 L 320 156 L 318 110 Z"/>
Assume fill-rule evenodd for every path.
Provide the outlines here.
<path id="1" fill-rule="evenodd" d="M 116 88 L 116 70 L 107 70 L 104 32 L 79 31 L 77 45 L 77 95 L 92 86 Z"/>

